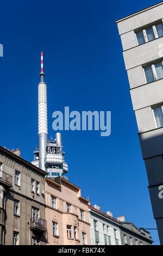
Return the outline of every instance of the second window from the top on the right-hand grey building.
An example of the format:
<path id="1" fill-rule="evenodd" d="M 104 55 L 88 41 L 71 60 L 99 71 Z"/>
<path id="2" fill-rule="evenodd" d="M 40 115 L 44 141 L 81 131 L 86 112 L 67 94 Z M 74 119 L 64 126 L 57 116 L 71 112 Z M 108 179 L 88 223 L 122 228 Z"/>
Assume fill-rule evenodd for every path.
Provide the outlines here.
<path id="1" fill-rule="evenodd" d="M 147 68 L 144 68 L 144 70 L 147 83 L 163 78 L 162 62 L 147 66 Z"/>

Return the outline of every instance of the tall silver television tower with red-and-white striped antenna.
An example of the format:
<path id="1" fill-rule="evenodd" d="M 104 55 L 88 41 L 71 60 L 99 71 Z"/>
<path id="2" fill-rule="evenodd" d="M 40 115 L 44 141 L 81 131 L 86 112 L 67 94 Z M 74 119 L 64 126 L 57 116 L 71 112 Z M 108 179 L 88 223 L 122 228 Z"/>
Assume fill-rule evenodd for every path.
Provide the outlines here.
<path id="1" fill-rule="evenodd" d="M 41 72 L 40 83 L 38 85 L 38 133 L 39 148 L 34 150 L 34 160 L 32 163 L 47 172 L 48 178 L 62 176 L 68 172 L 68 164 L 64 161 L 65 152 L 62 151 L 61 133 L 55 134 L 55 139 L 48 140 L 47 126 L 47 86 L 44 82 L 43 73 L 43 52 L 41 52 Z"/>

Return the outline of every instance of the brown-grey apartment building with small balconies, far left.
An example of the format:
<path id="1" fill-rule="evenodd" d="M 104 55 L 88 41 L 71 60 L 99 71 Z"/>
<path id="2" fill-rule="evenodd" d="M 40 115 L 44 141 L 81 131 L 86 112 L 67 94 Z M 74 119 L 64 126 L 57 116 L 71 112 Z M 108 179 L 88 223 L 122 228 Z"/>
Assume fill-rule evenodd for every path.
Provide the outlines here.
<path id="1" fill-rule="evenodd" d="M 0 245 L 45 245 L 46 172 L 0 147 Z"/>

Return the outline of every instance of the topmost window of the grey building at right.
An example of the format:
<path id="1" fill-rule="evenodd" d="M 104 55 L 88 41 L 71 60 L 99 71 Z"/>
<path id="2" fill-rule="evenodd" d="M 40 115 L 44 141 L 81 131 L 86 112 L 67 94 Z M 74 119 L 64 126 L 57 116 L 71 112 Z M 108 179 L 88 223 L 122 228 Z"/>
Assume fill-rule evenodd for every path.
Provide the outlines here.
<path id="1" fill-rule="evenodd" d="M 152 41 L 156 38 L 160 38 L 161 36 L 163 36 L 162 22 L 136 33 L 138 45 L 145 44 L 145 42 Z"/>

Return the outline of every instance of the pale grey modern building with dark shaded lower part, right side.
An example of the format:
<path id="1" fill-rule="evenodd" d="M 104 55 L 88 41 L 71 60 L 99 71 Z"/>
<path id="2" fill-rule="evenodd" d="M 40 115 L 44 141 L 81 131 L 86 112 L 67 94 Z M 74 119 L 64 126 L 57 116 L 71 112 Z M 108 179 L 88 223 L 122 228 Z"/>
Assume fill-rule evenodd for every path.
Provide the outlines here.
<path id="1" fill-rule="evenodd" d="M 139 129 L 153 215 L 163 245 L 163 2 L 116 21 Z"/>

